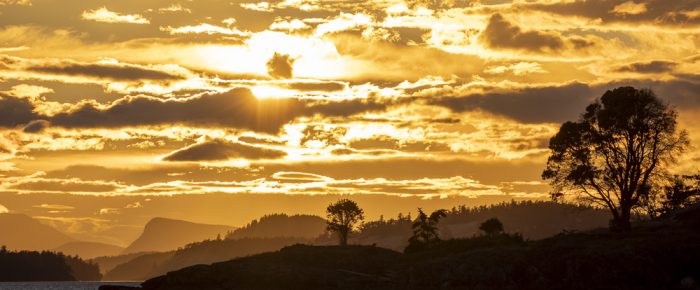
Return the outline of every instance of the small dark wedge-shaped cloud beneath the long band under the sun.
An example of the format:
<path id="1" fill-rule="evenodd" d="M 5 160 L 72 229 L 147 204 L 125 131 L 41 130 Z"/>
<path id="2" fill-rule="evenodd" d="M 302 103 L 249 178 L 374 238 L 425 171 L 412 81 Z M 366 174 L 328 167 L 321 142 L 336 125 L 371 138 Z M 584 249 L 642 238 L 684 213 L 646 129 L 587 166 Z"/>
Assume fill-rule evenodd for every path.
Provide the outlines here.
<path id="1" fill-rule="evenodd" d="M 217 161 L 233 158 L 277 159 L 286 156 L 281 150 L 222 139 L 205 141 L 177 150 L 166 161 Z"/>

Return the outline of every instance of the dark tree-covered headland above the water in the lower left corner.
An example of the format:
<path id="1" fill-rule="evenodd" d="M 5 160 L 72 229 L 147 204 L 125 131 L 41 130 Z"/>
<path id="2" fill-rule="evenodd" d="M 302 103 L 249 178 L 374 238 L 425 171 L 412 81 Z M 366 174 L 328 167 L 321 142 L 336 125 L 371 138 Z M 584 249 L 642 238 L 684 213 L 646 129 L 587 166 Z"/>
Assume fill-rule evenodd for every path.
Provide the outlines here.
<path id="1" fill-rule="evenodd" d="M 99 281 L 97 264 L 55 252 L 0 248 L 0 281 Z"/>

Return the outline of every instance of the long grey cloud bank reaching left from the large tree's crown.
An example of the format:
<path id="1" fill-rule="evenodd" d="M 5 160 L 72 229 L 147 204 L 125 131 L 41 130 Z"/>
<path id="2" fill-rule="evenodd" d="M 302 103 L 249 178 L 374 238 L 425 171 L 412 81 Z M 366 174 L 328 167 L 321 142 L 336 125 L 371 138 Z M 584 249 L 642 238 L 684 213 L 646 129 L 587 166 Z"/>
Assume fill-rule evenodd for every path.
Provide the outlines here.
<path id="1" fill-rule="evenodd" d="M 560 87 L 527 88 L 512 93 L 475 94 L 431 101 L 456 112 L 485 110 L 526 123 L 575 119 L 593 99 L 581 83 Z"/>

